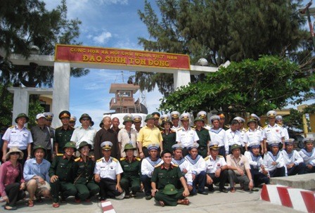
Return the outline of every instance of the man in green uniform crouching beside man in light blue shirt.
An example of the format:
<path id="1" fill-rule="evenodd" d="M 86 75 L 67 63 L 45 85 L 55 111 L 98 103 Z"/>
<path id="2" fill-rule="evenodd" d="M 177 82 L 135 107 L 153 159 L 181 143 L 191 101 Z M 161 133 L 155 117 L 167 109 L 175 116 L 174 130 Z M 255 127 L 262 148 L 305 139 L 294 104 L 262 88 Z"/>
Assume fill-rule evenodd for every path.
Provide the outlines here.
<path id="1" fill-rule="evenodd" d="M 64 154 L 58 154 L 53 158 L 49 169 L 53 207 L 59 207 L 59 193 L 61 194 L 62 201 L 77 193 L 77 189 L 73 184 L 72 175 L 72 164 L 74 162 L 73 153 L 75 153 L 76 150 L 75 143 L 66 143 L 64 150 Z"/>

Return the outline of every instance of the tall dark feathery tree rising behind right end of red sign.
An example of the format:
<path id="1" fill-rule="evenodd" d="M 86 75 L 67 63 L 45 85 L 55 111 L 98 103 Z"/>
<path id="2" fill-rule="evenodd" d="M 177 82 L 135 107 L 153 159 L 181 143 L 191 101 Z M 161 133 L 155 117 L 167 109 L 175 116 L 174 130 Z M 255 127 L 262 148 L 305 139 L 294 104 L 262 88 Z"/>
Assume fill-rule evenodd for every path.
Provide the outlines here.
<path id="1" fill-rule="evenodd" d="M 188 54 L 192 64 L 199 58 L 206 58 L 217 67 L 226 60 L 292 55 L 309 37 L 301 30 L 305 22 L 298 14 L 301 0 L 156 2 L 160 15 L 148 1 L 144 11 L 139 11 L 150 34 L 150 39 L 139 37 L 139 44 L 149 51 Z M 295 55 L 295 59 L 300 59 L 300 55 Z M 203 76 L 192 77 L 192 82 L 200 80 Z M 172 75 L 136 72 L 135 82 L 148 91 L 157 85 L 166 96 L 174 91 Z"/>

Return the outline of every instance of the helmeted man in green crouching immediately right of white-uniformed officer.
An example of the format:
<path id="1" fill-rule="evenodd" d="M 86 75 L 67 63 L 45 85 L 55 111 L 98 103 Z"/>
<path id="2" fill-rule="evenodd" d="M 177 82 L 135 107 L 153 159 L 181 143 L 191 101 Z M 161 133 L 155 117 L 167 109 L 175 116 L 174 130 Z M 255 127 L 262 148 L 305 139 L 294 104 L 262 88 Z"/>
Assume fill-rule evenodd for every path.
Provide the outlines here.
<path id="1" fill-rule="evenodd" d="M 124 153 L 126 157 L 120 158 L 120 164 L 122 165 L 122 179 L 120 185 L 126 192 L 124 198 L 130 198 L 129 186 L 131 186 L 131 197 L 136 197 L 136 191 L 140 190 L 140 169 L 141 159 L 134 157 L 134 146 L 131 143 L 127 143 L 124 146 Z"/>

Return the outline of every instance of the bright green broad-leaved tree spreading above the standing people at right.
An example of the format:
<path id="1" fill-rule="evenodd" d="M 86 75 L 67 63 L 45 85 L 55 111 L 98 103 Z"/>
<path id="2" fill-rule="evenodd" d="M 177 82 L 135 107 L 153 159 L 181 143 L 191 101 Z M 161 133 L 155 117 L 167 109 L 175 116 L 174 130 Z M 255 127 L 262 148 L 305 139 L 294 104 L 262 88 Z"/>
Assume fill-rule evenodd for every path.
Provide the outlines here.
<path id="1" fill-rule="evenodd" d="M 191 83 L 162 100 L 160 110 L 198 112 L 222 110 L 231 113 L 283 108 L 289 98 L 302 101 L 312 93 L 314 75 L 304 77 L 296 63 L 276 56 L 246 59 L 210 73 L 204 82 Z"/>

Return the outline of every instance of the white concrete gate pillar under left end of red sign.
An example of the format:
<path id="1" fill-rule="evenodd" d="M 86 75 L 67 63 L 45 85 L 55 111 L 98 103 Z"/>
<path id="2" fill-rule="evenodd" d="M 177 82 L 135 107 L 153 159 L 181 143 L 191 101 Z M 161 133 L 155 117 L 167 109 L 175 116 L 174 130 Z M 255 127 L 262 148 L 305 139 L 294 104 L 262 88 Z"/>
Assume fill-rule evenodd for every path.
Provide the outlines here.
<path id="1" fill-rule="evenodd" d="M 53 128 L 60 127 L 62 110 L 69 110 L 70 63 L 55 62 L 53 67 Z"/>

